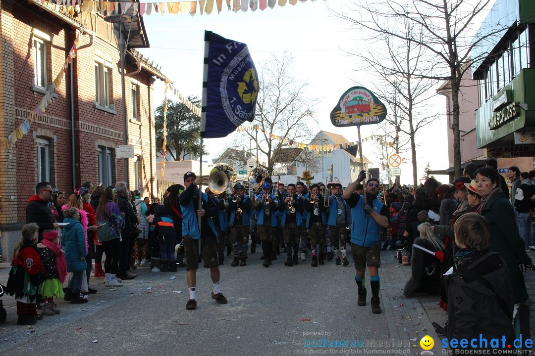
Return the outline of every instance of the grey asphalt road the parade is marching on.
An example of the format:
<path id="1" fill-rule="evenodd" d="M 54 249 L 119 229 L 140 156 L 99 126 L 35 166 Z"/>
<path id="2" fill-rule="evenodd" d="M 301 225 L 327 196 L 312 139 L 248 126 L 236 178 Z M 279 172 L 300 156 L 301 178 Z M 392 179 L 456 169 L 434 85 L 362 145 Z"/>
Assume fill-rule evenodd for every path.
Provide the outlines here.
<path id="1" fill-rule="evenodd" d="M 351 264 L 311 267 L 309 258 L 286 267 L 279 256 L 264 268 L 260 255 L 249 255 L 246 267 L 231 267 L 228 259 L 221 266 L 226 305 L 210 297 L 208 268 L 197 271 L 197 310 L 187 311 L 184 268 L 151 273 L 139 267 L 138 278 L 125 281 L 125 287 L 104 291 L 98 280 L 91 284 L 101 290 L 86 305 L 60 305 L 62 314 L 45 317 L 32 329 L 4 333 L 0 354 L 238 356 L 388 349 L 366 347 L 381 341 L 387 345 L 390 335 L 384 313 L 372 314 L 369 303 L 356 305 Z M 312 346 L 324 338 L 357 347 Z M 304 346 L 307 342 L 311 346 Z"/>

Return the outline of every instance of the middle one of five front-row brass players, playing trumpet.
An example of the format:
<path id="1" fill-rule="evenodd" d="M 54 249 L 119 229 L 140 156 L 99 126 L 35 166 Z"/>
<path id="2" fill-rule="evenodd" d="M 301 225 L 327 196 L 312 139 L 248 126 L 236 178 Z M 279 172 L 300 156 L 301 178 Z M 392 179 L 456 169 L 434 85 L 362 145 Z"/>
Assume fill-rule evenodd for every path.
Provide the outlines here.
<path id="1" fill-rule="evenodd" d="M 284 198 L 279 205 L 279 211 L 282 213 L 280 226 L 282 226 L 282 236 L 286 245 L 287 259 L 284 263 L 286 266 L 297 264 L 297 251 L 299 250 L 299 232 L 303 225 L 304 204 L 303 199 L 297 199 L 295 194 L 295 184 L 288 184 L 286 187 L 288 196 Z M 292 260 L 292 247 L 294 249 Z"/>

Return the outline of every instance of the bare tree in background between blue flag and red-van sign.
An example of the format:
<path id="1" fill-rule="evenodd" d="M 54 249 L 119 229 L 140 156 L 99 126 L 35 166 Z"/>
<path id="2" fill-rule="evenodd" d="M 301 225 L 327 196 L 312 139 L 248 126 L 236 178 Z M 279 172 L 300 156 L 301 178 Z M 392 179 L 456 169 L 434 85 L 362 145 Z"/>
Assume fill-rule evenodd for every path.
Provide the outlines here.
<path id="1" fill-rule="evenodd" d="M 272 54 L 261 66 L 254 123 L 262 130 L 244 133 L 247 138 L 256 139 L 258 136 L 258 151 L 266 156 L 263 168 L 267 169 L 270 175 L 279 163 L 279 151 L 288 147 L 288 143 L 291 144 L 292 141 L 302 142 L 310 139 L 311 128 L 316 123 L 316 100 L 306 92 L 308 82 L 297 80 L 291 75 L 293 61 L 292 54 L 284 52 L 280 57 Z M 272 137 L 269 132 L 278 138 Z"/>

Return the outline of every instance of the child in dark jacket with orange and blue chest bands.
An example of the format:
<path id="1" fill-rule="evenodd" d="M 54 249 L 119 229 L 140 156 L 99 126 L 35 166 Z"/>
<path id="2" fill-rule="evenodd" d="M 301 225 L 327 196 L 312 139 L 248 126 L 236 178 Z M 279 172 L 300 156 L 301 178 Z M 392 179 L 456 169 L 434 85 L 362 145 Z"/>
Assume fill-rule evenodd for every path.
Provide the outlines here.
<path id="1" fill-rule="evenodd" d="M 176 272 L 177 260 L 174 257 L 174 244 L 177 242 L 177 233 L 174 230 L 173 218 L 167 213 L 165 205 L 156 207 L 154 219 L 149 226 L 149 246 L 160 245 L 162 257 L 162 272 Z"/>

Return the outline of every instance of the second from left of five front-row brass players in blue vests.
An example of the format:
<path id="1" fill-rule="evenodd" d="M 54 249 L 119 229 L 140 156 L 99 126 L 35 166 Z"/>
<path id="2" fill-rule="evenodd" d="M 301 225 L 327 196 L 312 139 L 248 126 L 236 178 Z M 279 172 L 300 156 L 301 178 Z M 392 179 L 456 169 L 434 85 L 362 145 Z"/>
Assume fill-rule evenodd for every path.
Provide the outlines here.
<path id="1" fill-rule="evenodd" d="M 260 241 L 262 243 L 262 252 L 264 267 L 271 265 L 271 256 L 273 248 L 273 237 L 277 231 L 277 217 L 275 212 L 279 208 L 279 202 L 273 195 L 270 194 L 271 185 L 269 183 L 262 184 L 262 193 L 257 196 L 255 200 L 255 209 L 258 211 L 258 221 L 256 227 L 260 234 Z"/>

